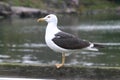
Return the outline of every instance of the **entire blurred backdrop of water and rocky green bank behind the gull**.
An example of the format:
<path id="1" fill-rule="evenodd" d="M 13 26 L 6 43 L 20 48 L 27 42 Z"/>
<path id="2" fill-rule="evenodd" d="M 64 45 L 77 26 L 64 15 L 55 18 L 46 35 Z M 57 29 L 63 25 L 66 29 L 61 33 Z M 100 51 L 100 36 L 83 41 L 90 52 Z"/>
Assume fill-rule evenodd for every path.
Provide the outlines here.
<path id="1" fill-rule="evenodd" d="M 44 41 L 47 23 L 36 22 L 50 13 L 61 30 L 106 45 L 75 52 L 66 65 L 120 67 L 120 0 L 0 0 L 0 63 L 60 63 Z"/>

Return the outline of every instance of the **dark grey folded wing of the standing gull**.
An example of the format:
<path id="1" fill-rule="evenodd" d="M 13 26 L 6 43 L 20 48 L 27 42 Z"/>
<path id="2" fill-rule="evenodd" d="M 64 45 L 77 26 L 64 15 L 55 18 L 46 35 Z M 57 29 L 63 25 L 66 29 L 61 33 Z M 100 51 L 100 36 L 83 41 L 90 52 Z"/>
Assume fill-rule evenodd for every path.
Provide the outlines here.
<path id="1" fill-rule="evenodd" d="M 52 39 L 52 41 L 56 45 L 65 49 L 82 49 L 90 45 L 89 42 L 81 40 L 80 38 L 65 32 L 59 32 L 55 34 L 55 37 Z"/>

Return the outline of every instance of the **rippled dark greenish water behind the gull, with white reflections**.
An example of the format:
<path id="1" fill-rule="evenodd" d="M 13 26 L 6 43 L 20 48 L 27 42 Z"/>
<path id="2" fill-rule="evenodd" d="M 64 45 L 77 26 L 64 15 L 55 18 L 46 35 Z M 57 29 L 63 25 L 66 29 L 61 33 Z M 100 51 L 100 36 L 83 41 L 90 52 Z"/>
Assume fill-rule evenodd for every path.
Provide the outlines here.
<path id="1" fill-rule="evenodd" d="M 0 62 L 49 64 L 61 62 L 61 54 L 44 41 L 46 23 L 37 19 L 0 21 Z M 67 56 L 66 65 L 120 67 L 119 17 L 59 16 L 59 28 L 78 37 L 106 45 L 99 52 L 81 51 Z"/>

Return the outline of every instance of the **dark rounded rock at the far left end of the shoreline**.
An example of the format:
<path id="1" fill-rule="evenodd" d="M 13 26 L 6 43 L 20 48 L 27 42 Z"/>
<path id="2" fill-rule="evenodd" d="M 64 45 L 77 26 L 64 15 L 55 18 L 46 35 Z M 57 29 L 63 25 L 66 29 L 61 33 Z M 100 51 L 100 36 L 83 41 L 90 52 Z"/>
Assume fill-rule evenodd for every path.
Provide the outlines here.
<path id="1" fill-rule="evenodd" d="M 3 18 L 10 17 L 12 14 L 11 6 L 7 3 L 0 2 L 0 16 Z"/>

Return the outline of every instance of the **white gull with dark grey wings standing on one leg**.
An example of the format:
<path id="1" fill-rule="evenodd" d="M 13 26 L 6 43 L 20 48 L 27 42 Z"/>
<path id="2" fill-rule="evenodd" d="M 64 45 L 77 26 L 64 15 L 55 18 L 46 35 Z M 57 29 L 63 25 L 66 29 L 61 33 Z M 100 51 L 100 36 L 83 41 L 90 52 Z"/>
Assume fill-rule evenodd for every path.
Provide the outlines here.
<path id="1" fill-rule="evenodd" d="M 37 20 L 37 22 L 41 21 L 46 21 L 48 23 L 45 32 L 45 42 L 47 46 L 55 52 L 62 53 L 62 63 L 56 64 L 57 68 L 64 65 L 66 53 L 77 50 L 98 51 L 98 48 L 102 47 L 100 44 L 94 44 L 61 31 L 57 27 L 58 18 L 55 14 L 49 14 Z"/>

